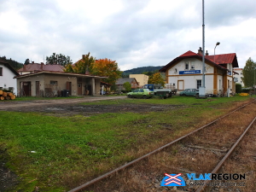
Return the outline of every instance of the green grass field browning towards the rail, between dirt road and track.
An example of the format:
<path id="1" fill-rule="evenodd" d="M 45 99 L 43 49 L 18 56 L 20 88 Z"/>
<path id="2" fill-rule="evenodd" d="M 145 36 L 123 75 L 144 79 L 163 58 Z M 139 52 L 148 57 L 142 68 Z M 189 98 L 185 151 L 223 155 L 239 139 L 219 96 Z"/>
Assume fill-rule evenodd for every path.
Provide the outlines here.
<path id="1" fill-rule="evenodd" d="M 123 99 L 124 103 L 173 105 L 164 112 L 101 113 L 55 117 L 44 113 L 0 113 L 0 153 L 24 191 L 67 191 L 134 160 L 252 99 L 248 96 L 195 99 Z M 4 156 L 3 156 L 4 155 Z"/>

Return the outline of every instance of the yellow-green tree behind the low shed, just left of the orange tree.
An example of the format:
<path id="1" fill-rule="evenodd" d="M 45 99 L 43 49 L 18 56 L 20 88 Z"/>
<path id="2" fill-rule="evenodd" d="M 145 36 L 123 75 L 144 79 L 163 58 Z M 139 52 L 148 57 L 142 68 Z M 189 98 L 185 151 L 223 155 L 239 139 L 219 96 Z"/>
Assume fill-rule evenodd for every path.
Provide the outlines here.
<path id="1" fill-rule="evenodd" d="M 90 52 L 89 52 L 87 55 L 83 55 L 83 58 L 74 64 L 73 72 L 72 71 L 67 71 L 67 72 L 85 74 L 85 72 L 91 72 L 91 68 L 94 63 L 95 63 L 95 58 L 93 56 L 90 56 Z"/>

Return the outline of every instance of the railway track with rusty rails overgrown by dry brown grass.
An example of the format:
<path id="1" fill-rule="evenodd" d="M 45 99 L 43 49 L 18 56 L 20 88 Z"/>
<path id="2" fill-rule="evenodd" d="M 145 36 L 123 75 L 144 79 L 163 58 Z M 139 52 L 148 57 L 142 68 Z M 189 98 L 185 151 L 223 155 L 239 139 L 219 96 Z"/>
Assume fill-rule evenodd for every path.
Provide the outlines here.
<path id="1" fill-rule="evenodd" d="M 211 180 L 201 179 L 203 181 L 201 183 L 204 184 L 200 185 L 195 184 L 198 180 L 191 182 L 191 177 L 195 176 L 194 178 L 198 179 L 201 174 L 219 172 L 224 161 L 236 148 L 237 140 L 241 141 L 246 130 L 254 125 L 255 107 L 256 104 L 253 101 L 236 108 L 207 125 L 69 192 L 204 191 Z M 218 165 L 217 168 L 216 165 Z M 165 173 L 169 175 L 181 173 L 185 186 L 163 185 Z M 204 176 L 201 178 L 205 179 Z M 215 190 L 212 191 L 220 191 L 218 189 L 222 188 L 215 186 Z"/>

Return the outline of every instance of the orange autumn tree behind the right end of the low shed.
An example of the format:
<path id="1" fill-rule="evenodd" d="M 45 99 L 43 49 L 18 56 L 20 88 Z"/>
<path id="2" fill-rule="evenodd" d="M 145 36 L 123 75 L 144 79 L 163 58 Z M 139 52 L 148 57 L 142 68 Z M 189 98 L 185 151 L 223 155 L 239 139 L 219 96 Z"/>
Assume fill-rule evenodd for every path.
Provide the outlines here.
<path id="1" fill-rule="evenodd" d="M 95 63 L 92 64 L 91 73 L 108 77 L 108 79 L 104 79 L 108 84 L 115 84 L 116 80 L 119 79 L 122 74 L 119 70 L 118 63 L 107 58 L 96 60 Z"/>

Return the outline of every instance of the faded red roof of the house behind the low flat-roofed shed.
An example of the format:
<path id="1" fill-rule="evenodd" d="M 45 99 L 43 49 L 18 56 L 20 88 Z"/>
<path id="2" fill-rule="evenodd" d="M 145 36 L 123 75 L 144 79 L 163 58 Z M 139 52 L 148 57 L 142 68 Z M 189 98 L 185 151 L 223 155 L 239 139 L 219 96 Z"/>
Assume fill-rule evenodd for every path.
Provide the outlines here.
<path id="1" fill-rule="evenodd" d="M 43 67 L 43 68 L 42 68 Z M 61 65 L 44 65 L 38 63 L 31 63 L 24 65 L 18 72 L 35 72 L 35 71 L 49 71 L 49 72 L 63 72 L 64 67 Z"/>

